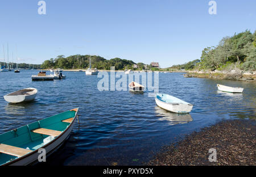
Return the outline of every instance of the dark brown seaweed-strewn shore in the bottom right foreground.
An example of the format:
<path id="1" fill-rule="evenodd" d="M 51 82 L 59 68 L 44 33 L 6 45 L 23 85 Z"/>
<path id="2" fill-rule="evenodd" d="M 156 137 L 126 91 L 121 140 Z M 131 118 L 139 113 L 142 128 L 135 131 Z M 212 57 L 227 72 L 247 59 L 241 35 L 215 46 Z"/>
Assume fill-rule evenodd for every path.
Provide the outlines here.
<path id="1" fill-rule="evenodd" d="M 163 147 L 147 165 L 238 166 L 256 165 L 255 120 L 228 120 L 188 135 L 177 144 Z M 209 162 L 209 149 L 217 162 Z"/>

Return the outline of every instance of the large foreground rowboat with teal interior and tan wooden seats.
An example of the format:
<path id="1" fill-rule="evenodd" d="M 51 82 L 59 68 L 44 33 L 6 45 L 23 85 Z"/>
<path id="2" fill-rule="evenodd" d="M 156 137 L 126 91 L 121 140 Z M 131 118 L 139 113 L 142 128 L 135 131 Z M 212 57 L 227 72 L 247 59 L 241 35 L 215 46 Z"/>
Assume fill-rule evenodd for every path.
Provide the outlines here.
<path id="1" fill-rule="evenodd" d="M 38 162 L 39 149 L 56 151 L 72 131 L 79 108 L 60 113 L 0 134 L 0 165 L 30 165 Z"/>

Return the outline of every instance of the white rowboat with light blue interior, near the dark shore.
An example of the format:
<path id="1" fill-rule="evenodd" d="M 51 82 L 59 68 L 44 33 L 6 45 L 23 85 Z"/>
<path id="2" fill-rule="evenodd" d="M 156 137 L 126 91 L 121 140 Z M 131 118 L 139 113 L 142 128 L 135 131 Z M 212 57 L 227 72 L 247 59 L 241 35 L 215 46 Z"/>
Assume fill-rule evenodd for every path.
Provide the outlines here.
<path id="1" fill-rule="evenodd" d="M 159 107 L 175 113 L 188 113 L 193 108 L 192 104 L 167 94 L 156 94 L 155 102 Z"/>

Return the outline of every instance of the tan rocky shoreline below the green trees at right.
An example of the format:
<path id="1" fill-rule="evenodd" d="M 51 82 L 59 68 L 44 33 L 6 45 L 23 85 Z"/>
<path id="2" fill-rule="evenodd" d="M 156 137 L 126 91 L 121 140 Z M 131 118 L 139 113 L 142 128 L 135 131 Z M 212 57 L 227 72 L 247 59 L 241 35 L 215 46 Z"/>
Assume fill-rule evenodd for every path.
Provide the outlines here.
<path id="1" fill-rule="evenodd" d="M 255 82 L 256 71 L 252 71 L 252 72 L 243 72 L 241 70 L 189 71 L 188 73 L 184 74 L 184 77 L 213 78 L 213 79 Z"/>

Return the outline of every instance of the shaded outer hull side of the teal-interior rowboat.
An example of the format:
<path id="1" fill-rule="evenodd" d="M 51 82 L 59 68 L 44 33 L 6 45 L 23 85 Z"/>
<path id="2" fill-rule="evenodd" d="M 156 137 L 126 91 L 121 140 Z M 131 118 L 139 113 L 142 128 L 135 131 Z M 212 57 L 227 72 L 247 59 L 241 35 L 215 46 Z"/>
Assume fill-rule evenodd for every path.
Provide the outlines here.
<path id="1" fill-rule="evenodd" d="M 48 142 L 48 144 L 41 147 L 46 150 L 47 156 L 51 155 L 54 151 L 59 149 L 59 147 L 65 142 L 65 140 L 67 140 L 75 124 L 76 116 L 75 116 L 75 119 L 73 119 L 73 122 L 69 125 L 69 128 L 67 130 L 61 133 L 59 137 L 55 138 L 55 140 L 52 140 Z M 39 155 L 38 151 L 32 151 L 31 153 L 26 154 L 22 159 L 19 158 L 19 160 L 17 159 L 18 161 L 15 161 L 15 160 L 11 161 L 7 165 L 25 166 L 25 165 L 35 164 L 35 163 L 38 163 L 38 155 Z"/>

